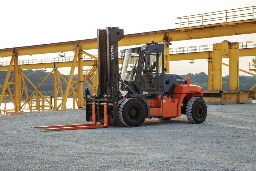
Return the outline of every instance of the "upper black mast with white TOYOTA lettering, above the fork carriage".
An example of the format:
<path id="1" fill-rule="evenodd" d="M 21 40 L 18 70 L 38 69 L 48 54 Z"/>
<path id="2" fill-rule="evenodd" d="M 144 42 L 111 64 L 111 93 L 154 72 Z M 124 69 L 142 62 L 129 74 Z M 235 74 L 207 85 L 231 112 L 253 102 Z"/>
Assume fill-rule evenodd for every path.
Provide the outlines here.
<path id="1" fill-rule="evenodd" d="M 118 41 L 123 37 L 124 30 L 118 27 L 98 30 L 99 95 L 118 96 Z"/>

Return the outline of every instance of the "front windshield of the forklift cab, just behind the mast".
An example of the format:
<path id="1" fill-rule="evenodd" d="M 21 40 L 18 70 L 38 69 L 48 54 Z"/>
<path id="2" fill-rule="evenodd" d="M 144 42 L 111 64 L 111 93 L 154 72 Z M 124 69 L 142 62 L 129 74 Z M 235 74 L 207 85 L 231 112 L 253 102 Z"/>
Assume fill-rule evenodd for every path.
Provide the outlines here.
<path id="1" fill-rule="evenodd" d="M 134 81 L 136 69 L 139 62 L 140 48 L 128 49 L 125 51 L 124 62 L 121 70 L 121 78 L 123 81 Z"/>

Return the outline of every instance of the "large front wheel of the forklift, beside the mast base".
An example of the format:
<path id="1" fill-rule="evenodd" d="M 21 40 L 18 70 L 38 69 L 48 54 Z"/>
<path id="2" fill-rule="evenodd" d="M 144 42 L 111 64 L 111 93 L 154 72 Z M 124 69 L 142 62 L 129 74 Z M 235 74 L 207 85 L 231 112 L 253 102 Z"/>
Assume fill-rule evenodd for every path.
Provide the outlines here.
<path id="1" fill-rule="evenodd" d="M 136 98 L 124 98 L 119 102 L 118 116 L 119 121 L 126 127 L 138 127 L 146 119 L 146 105 Z"/>

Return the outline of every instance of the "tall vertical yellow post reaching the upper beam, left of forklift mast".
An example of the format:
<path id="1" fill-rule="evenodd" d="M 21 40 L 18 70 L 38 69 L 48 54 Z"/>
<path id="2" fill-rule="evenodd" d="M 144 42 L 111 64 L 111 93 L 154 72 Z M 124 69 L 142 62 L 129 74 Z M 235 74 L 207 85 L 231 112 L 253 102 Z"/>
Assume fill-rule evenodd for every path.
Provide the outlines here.
<path id="1" fill-rule="evenodd" d="M 79 52 L 78 54 L 78 108 L 83 108 L 83 54 Z M 73 95 L 74 96 L 74 95 Z"/>

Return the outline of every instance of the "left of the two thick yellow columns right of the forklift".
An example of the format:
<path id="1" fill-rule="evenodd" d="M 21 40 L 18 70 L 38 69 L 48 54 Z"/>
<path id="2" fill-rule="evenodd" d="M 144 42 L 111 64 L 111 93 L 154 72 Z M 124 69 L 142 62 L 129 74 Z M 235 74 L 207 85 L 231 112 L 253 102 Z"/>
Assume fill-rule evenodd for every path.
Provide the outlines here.
<path id="1" fill-rule="evenodd" d="M 212 86 L 213 90 L 222 90 L 222 53 L 221 43 L 213 44 Z"/>

